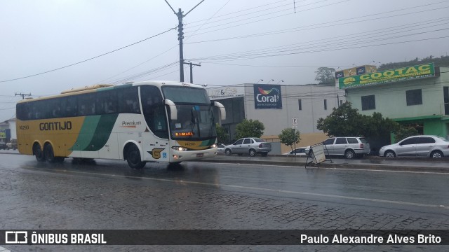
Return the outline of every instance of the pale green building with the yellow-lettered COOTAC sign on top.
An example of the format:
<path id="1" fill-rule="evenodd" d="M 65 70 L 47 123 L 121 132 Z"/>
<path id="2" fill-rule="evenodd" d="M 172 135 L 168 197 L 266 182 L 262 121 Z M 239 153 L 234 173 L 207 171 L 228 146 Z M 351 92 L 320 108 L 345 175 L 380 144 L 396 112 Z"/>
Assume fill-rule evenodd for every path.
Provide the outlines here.
<path id="1" fill-rule="evenodd" d="M 382 113 L 420 134 L 449 138 L 449 67 L 433 63 L 338 79 L 359 113 Z"/>

